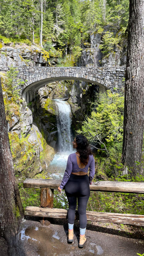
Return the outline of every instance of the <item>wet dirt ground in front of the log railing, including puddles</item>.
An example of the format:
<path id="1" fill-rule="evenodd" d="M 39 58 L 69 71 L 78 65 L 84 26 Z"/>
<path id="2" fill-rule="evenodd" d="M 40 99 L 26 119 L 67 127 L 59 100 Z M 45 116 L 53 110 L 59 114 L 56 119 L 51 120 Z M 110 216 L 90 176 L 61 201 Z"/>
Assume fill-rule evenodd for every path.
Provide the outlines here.
<path id="1" fill-rule="evenodd" d="M 67 220 L 45 218 L 44 220 L 51 221 L 49 226 L 42 225 L 40 220 L 42 218 L 30 217 L 22 220 L 17 235 L 21 255 L 137 256 L 137 253 L 144 253 L 144 232 L 140 227 L 89 221 L 86 229 L 87 242 L 84 248 L 78 248 L 78 221 L 75 221 L 74 226 L 74 243 L 68 244 Z M 1 256 L 7 256 L 7 245 L 3 239 L 0 239 L 0 252 Z"/>

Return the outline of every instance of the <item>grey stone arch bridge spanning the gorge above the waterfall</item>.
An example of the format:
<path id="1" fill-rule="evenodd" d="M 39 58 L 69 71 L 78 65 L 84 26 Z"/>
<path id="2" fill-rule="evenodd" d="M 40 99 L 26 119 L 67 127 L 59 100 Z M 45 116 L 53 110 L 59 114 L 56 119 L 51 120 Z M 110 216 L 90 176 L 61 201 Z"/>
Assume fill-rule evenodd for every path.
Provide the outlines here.
<path id="1" fill-rule="evenodd" d="M 8 69 L 3 67 L 1 71 Z M 17 78 L 26 81 L 18 89 L 27 103 L 40 87 L 53 81 L 81 80 L 99 85 L 102 92 L 124 86 L 125 67 L 17 67 L 17 70 Z"/>

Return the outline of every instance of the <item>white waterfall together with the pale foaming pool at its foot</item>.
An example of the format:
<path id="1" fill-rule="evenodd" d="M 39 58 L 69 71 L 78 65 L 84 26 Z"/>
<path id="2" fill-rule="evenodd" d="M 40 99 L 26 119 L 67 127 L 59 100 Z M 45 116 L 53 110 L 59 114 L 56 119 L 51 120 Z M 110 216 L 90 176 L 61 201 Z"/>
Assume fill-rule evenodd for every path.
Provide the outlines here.
<path id="1" fill-rule="evenodd" d="M 48 166 L 53 179 L 60 179 L 66 169 L 68 155 L 74 153 L 71 143 L 71 110 L 67 101 L 54 100 L 56 103 L 58 152 Z"/>

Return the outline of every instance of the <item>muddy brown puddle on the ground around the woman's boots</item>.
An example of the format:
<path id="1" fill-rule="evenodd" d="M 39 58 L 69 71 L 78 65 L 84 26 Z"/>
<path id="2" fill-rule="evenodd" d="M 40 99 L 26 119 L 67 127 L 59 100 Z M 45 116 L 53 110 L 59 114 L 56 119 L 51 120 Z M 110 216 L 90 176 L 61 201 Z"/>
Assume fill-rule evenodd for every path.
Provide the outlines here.
<path id="1" fill-rule="evenodd" d="M 25 248 L 28 256 L 92 256 L 101 255 L 104 251 L 100 245 L 87 244 L 84 250 L 78 248 L 77 239 L 75 246 L 67 244 L 64 230 L 55 231 L 52 228 L 41 226 L 27 226 L 19 233 L 21 246 Z"/>

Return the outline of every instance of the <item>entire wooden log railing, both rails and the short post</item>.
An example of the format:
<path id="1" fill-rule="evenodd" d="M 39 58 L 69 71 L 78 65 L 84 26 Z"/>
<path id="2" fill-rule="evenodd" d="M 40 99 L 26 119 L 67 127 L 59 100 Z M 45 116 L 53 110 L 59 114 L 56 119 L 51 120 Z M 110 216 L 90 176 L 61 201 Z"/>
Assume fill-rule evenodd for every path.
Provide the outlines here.
<path id="1" fill-rule="evenodd" d="M 40 207 L 27 206 L 25 215 L 49 217 L 49 218 L 67 218 L 67 210 L 53 208 L 53 191 L 60 186 L 61 180 L 48 179 L 26 179 L 23 182 L 24 188 L 40 188 Z M 105 192 L 123 192 L 123 193 L 144 193 L 144 183 L 141 182 L 121 182 L 121 181 L 96 181 L 90 185 L 91 191 Z M 92 212 L 86 211 L 87 220 L 122 223 L 137 226 L 144 226 L 144 215 Z M 76 219 L 78 219 L 76 211 Z"/>

